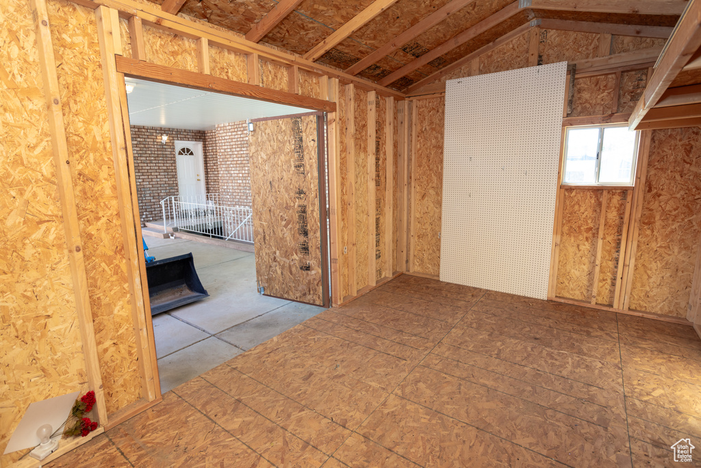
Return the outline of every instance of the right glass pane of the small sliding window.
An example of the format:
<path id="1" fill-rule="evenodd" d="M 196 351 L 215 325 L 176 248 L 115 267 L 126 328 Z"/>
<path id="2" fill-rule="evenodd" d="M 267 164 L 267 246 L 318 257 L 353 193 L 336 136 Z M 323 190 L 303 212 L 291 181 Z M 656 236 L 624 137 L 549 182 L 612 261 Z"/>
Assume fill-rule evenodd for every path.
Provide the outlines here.
<path id="1" fill-rule="evenodd" d="M 635 132 L 627 127 L 604 128 L 599 182 L 629 184 L 632 181 Z"/>

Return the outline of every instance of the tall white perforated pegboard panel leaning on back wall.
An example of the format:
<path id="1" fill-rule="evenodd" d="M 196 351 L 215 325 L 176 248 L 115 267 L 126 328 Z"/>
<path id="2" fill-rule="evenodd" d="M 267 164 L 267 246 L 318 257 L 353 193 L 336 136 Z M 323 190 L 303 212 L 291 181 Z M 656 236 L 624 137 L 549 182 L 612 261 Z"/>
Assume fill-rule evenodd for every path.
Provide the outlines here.
<path id="1" fill-rule="evenodd" d="M 442 281 L 547 298 L 566 71 L 447 81 Z"/>

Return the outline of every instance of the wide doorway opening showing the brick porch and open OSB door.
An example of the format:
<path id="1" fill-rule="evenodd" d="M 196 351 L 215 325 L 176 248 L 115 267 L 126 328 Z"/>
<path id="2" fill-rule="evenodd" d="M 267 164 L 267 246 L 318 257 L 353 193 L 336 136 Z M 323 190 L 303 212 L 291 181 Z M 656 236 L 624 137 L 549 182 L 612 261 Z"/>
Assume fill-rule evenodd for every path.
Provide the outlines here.
<path id="1" fill-rule="evenodd" d="M 325 116 L 125 81 L 148 253 L 209 294 L 152 317 L 167 392 L 327 308 Z"/>

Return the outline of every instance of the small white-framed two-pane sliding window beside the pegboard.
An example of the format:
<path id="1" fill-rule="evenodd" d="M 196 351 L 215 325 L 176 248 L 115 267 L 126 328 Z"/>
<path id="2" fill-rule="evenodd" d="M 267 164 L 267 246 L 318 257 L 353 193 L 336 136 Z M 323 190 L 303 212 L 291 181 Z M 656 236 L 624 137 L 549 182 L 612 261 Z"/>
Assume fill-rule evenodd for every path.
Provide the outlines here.
<path id="1" fill-rule="evenodd" d="M 567 128 L 562 183 L 633 185 L 638 133 L 621 125 Z"/>

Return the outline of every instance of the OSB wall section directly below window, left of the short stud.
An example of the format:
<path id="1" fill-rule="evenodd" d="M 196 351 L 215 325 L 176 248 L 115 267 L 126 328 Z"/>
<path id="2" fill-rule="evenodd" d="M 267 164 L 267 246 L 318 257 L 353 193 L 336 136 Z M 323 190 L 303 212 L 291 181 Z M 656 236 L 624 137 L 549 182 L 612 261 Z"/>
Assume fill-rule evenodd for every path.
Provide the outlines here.
<path id="1" fill-rule="evenodd" d="M 590 300 L 597 255 L 601 190 L 566 190 L 555 295 Z"/>

